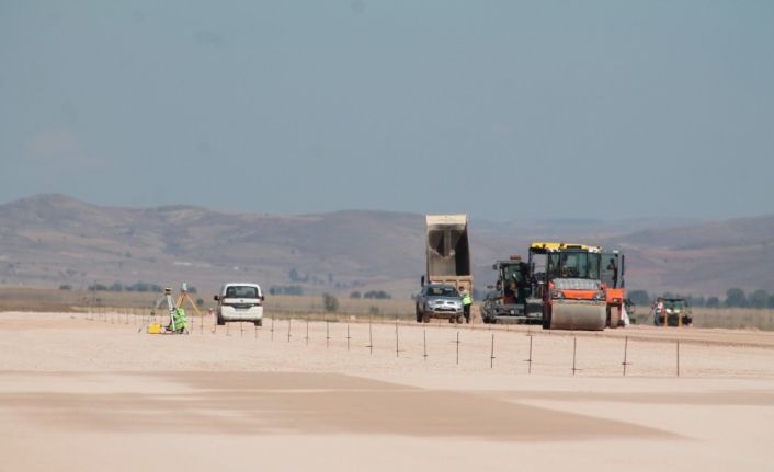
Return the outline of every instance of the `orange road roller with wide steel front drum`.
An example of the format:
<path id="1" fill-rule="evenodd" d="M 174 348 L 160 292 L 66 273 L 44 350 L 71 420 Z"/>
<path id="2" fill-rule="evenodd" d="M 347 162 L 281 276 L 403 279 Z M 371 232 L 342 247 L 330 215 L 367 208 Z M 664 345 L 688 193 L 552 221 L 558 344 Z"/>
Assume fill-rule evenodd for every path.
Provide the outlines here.
<path id="1" fill-rule="evenodd" d="M 546 330 L 604 330 L 607 303 L 601 261 L 599 246 L 532 243 L 527 311 L 540 307 Z"/>

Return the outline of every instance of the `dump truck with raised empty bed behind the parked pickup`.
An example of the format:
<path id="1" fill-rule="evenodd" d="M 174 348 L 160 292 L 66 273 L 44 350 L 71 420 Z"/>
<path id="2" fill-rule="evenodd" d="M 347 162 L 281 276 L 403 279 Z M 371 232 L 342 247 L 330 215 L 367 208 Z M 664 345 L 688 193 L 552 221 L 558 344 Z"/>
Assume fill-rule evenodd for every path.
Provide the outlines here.
<path id="1" fill-rule="evenodd" d="M 448 284 L 473 293 L 467 215 L 426 216 L 426 272 L 422 286 Z"/>

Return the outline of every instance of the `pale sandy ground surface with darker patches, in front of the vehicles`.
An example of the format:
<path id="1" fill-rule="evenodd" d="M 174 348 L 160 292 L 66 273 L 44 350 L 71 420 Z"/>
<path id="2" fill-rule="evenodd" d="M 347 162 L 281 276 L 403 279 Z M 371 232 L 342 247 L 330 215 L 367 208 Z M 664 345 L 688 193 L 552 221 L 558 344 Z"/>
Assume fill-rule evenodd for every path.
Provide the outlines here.
<path id="1" fill-rule="evenodd" d="M 141 322 L 0 313 L 0 471 L 774 470 L 770 333 Z"/>

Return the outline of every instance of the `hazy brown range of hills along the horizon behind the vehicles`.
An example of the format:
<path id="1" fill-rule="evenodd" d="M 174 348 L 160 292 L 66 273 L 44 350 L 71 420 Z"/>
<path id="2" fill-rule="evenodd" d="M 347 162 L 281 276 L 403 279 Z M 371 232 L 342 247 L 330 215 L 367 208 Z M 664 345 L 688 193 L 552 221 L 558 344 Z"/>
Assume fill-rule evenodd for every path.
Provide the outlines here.
<path id="1" fill-rule="evenodd" d="M 530 241 L 581 241 L 627 254 L 629 288 L 694 295 L 774 291 L 774 216 L 720 222 L 471 219 L 476 285 Z M 227 280 L 305 292 L 385 290 L 405 298 L 424 270 L 424 216 L 337 211 L 270 216 L 194 206 L 115 208 L 62 195 L 0 205 L 0 284 L 187 281 L 208 296 Z M 292 274 L 293 272 L 293 274 Z"/>

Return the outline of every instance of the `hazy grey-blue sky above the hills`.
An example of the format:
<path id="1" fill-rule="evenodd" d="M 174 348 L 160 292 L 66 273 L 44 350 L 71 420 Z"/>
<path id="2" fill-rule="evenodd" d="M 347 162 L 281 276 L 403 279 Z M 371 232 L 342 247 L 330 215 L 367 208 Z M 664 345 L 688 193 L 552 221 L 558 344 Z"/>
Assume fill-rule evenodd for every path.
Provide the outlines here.
<path id="1" fill-rule="evenodd" d="M 774 212 L 773 1 L 0 0 L 0 202 Z"/>

